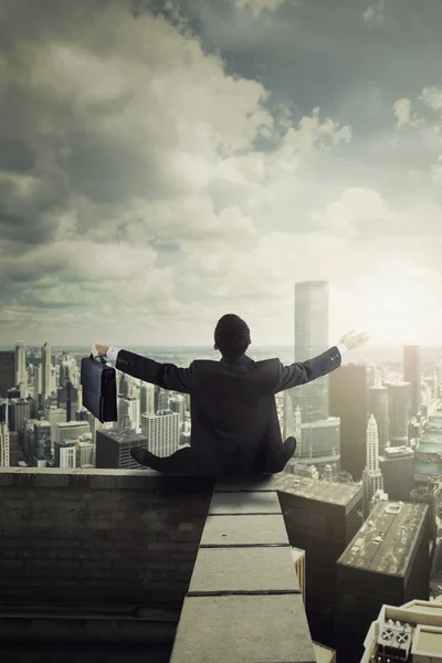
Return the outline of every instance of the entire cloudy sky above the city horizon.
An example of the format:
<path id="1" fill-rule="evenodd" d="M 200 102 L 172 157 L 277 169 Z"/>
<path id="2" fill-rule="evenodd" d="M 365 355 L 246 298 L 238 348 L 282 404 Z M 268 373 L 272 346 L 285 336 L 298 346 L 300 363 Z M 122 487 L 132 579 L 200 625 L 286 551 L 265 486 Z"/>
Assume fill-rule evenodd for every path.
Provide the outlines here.
<path id="1" fill-rule="evenodd" d="M 440 345 L 439 0 L 0 0 L 0 345 Z"/>

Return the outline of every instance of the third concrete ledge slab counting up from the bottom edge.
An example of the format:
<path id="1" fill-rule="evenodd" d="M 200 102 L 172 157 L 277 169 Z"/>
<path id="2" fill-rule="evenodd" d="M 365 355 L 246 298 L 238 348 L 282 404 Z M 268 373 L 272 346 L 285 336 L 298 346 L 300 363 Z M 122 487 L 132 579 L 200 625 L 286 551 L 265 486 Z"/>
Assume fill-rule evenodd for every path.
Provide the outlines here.
<path id="1" fill-rule="evenodd" d="M 288 546 L 282 515 L 207 517 L 200 547 L 256 545 Z"/>

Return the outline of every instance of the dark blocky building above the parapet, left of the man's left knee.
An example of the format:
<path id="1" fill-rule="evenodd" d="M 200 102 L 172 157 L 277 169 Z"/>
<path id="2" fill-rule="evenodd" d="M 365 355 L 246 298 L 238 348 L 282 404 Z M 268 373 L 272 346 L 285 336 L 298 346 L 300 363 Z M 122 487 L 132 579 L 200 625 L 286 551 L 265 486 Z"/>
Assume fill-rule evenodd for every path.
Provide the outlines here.
<path id="1" fill-rule="evenodd" d="M 139 470 L 139 464 L 130 455 L 130 449 L 141 446 L 147 450 L 147 440 L 131 430 L 99 430 L 96 432 L 97 469 Z"/>

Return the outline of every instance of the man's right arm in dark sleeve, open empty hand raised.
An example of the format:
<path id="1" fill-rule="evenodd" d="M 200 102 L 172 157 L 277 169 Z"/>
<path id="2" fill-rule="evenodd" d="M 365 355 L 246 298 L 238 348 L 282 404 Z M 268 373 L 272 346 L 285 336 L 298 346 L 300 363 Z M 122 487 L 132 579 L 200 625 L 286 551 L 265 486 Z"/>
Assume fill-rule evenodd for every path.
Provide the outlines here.
<path id="1" fill-rule="evenodd" d="M 362 347 L 367 340 L 367 334 L 354 334 L 354 332 L 349 332 L 348 334 L 344 334 L 336 346 L 333 346 L 329 350 L 313 359 L 296 361 L 291 366 L 283 366 L 281 364 L 280 375 L 273 392 L 277 393 L 284 389 L 299 387 L 330 373 L 336 368 L 339 368 L 345 352 Z"/>

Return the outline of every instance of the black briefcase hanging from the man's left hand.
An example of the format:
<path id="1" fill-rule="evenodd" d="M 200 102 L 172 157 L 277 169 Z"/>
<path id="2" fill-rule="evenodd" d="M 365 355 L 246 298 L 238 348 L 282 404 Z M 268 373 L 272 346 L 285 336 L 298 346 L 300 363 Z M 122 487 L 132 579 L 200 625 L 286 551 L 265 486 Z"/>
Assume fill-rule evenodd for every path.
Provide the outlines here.
<path id="1" fill-rule="evenodd" d="M 83 357 L 80 381 L 83 387 L 83 406 L 102 423 L 117 421 L 116 371 L 104 357 Z"/>

